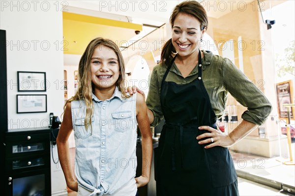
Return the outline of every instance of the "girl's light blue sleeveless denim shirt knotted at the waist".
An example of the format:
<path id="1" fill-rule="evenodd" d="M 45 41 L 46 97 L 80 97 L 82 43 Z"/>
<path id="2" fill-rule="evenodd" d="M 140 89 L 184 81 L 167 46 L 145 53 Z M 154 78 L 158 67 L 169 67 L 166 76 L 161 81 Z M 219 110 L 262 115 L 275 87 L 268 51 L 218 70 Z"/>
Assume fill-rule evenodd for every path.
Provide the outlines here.
<path id="1" fill-rule="evenodd" d="M 78 183 L 98 196 L 112 195 L 130 181 L 136 190 L 136 94 L 122 98 L 116 87 L 110 99 L 92 94 L 92 101 L 92 131 L 85 129 L 85 102 L 71 102 Z"/>

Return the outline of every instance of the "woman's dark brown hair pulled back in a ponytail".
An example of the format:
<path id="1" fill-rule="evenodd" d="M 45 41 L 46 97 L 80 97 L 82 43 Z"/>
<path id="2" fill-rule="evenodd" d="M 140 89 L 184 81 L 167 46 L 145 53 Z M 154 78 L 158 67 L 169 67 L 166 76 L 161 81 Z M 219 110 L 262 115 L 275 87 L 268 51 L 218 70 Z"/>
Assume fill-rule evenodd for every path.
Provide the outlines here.
<path id="1" fill-rule="evenodd" d="M 195 17 L 201 23 L 201 30 L 204 30 L 208 26 L 206 10 L 198 1 L 183 1 L 175 7 L 170 16 L 171 28 L 173 28 L 174 21 L 179 13 L 189 14 Z M 171 60 L 175 53 L 176 50 L 172 45 L 172 39 L 169 39 L 163 47 L 161 53 L 161 62 L 163 63 L 166 61 L 166 64 L 171 64 Z"/>

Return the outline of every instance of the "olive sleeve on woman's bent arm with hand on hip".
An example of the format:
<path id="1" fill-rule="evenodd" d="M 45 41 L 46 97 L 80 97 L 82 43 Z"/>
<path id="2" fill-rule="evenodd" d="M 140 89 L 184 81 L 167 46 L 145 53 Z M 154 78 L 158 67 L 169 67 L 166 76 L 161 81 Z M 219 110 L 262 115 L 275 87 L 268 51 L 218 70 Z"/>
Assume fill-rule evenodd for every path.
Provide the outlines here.
<path id="1" fill-rule="evenodd" d="M 228 92 L 247 108 L 241 117 L 254 124 L 262 125 L 272 110 L 266 96 L 227 58 L 223 61 L 222 75 Z"/>

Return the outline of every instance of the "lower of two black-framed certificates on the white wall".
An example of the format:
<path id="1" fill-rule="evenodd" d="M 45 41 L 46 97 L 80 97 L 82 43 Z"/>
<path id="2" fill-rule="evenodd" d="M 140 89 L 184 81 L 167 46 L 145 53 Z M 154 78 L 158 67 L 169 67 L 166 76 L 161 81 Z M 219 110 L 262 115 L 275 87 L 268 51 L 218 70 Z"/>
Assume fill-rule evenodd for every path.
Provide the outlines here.
<path id="1" fill-rule="evenodd" d="M 47 95 L 16 95 L 16 113 L 47 112 Z"/>

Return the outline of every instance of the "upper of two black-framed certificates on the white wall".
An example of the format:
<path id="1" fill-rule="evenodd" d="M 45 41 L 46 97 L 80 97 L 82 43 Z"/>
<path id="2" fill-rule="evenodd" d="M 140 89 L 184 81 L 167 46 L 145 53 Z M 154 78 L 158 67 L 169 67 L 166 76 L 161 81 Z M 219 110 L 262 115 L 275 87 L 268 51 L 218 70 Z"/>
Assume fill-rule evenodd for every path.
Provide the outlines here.
<path id="1" fill-rule="evenodd" d="M 17 91 L 46 91 L 46 73 L 18 71 Z"/>

